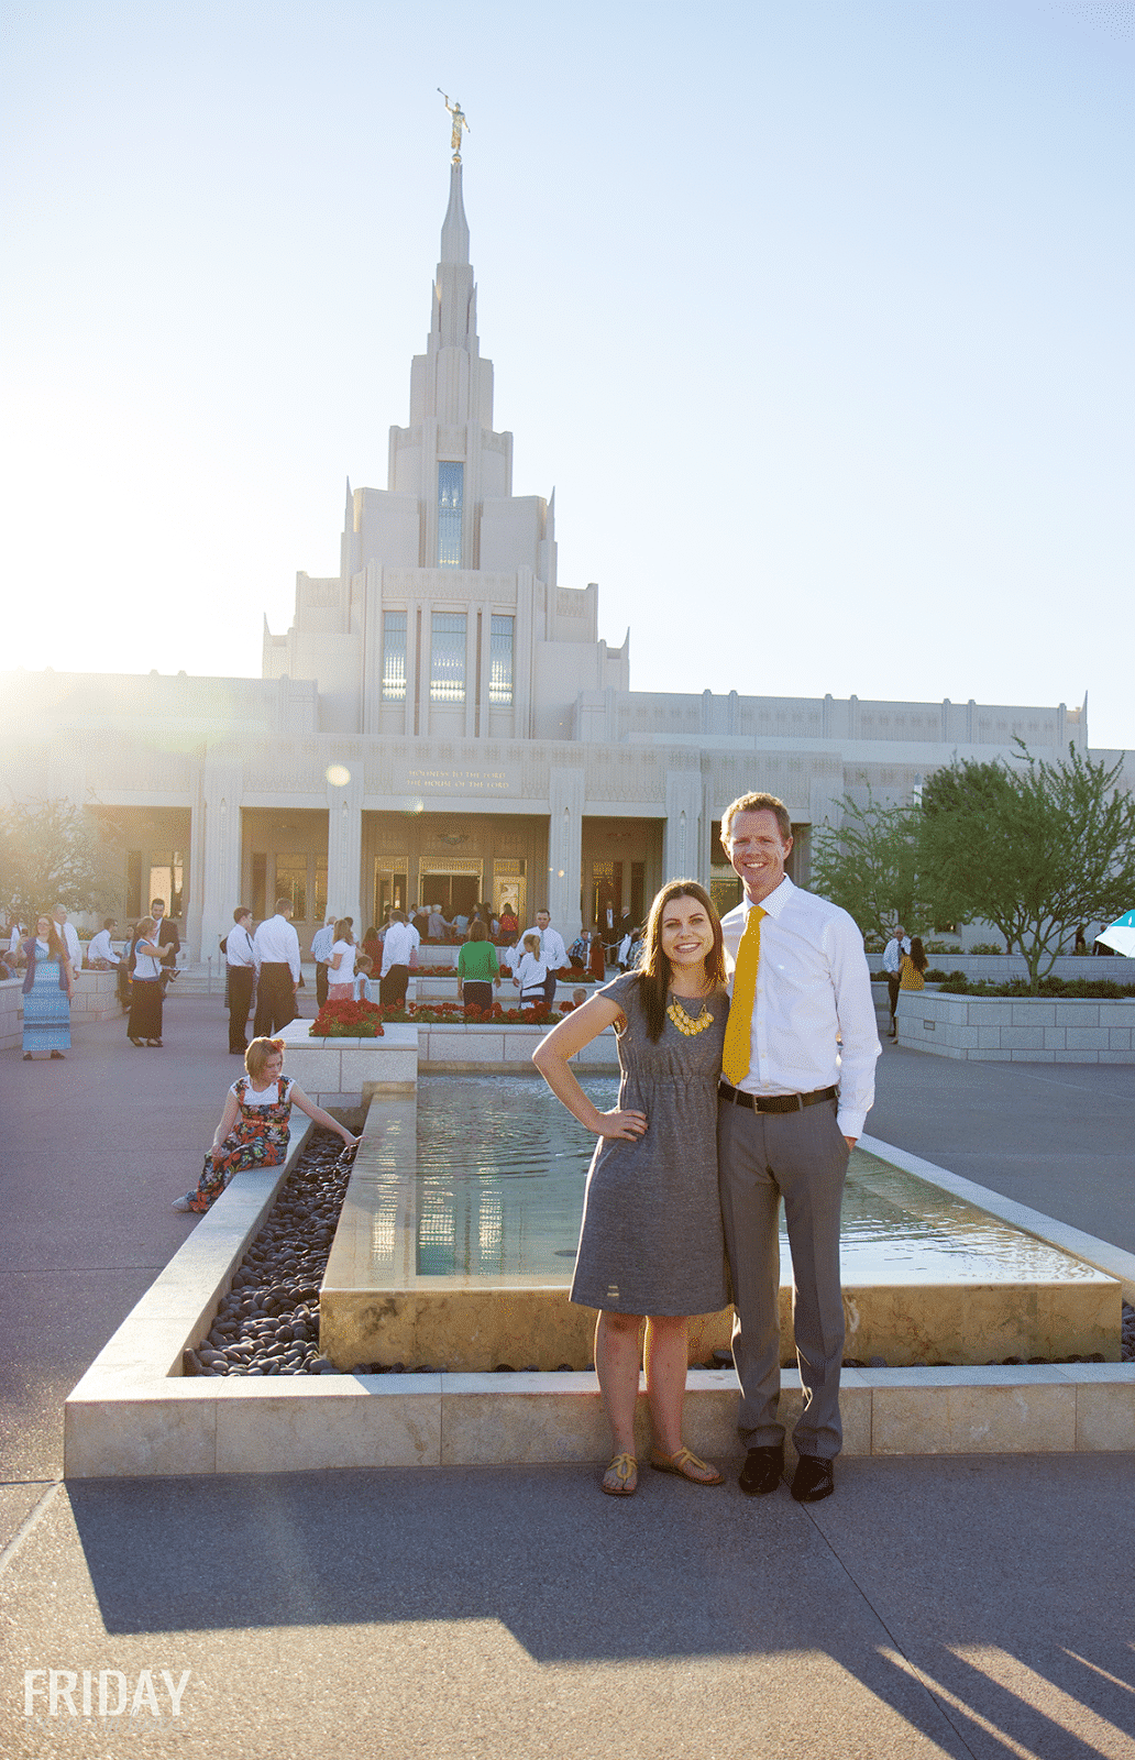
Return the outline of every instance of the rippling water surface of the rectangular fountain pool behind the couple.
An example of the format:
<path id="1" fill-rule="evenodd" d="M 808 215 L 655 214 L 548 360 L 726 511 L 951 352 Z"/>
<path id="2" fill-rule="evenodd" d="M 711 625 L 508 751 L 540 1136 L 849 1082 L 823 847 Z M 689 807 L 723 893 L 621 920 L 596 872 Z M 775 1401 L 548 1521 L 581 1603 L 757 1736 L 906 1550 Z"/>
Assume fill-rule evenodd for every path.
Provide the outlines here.
<path id="1" fill-rule="evenodd" d="M 618 1077 L 582 1075 L 607 1111 Z M 421 1276 L 570 1278 L 595 1148 L 546 1084 L 426 1075 L 417 1089 Z M 781 1236 L 788 1276 L 788 1243 Z M 1082 1281 L 1096 1272 L 857 1149 L 843 1199 L 843 1278 L 862 1283 Z"/>

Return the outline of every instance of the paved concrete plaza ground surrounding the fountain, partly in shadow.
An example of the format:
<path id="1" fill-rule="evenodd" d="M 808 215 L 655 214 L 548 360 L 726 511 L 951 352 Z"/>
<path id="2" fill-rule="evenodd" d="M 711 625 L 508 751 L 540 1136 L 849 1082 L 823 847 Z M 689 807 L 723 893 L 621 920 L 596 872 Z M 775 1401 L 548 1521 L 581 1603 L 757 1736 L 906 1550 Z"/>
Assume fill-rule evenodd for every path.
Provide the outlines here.
<path id="1" fill-rule="evenodd" d="M 0 1054 L 2 1755 L 1135 1756 L 1130 1454 L 846 1459 L 809 1508 L 589 1466 L 63 1485 L 225 1044 L 174 991 L 162 1051 Z M 1131 1068 L 889 1045 L 869 1130 L 1135 1251 Z"/>

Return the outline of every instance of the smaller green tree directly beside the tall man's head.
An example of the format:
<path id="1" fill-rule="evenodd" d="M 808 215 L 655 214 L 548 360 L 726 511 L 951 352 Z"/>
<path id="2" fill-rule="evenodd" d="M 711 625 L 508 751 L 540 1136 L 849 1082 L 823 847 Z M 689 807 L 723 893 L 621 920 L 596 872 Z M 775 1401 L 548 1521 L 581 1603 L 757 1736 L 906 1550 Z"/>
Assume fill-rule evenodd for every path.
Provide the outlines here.
<path id="1" fill-rule="evenodd" d="M 882 806 L 871 790 L 866 806 L 850 796 L 838 806 L 839 824 L 825 822 L 813 840 L 816 892 L 843 905 L 864 935 L 882 940 L 896 915 L 904 924 L 929 920 L 919 880 L 919 808 Z"/>

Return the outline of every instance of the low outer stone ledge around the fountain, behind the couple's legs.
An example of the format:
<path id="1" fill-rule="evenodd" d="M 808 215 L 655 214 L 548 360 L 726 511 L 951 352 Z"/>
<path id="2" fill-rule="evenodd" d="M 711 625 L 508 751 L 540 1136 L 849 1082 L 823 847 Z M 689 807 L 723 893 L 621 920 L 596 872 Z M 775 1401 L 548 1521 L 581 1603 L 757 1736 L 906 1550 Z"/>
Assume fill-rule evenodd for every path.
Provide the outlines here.
<path id="1" fill-rule="evenodd" d="M 183 1378 L 306 1132 L 280 1169 L 241 1174 L 99 1352 L 63 1408 L 63 1477 L 324 1471 L 366 1466 L 600 1464 L 593 1373 Z M 864 1149 L 1038 1236 L 1135 1292 L 1135 1255 L 875 1137 Z M 783 1410 L 801 1404 L 783 1371 Z M 730 1369 L 692 1369 L 686 1440 L 736 1457 Z M 845 1454 L 1135 1450 L 1135 1364 L 845 1369 Z M 641 1452 L 646 1403 L 641 1399 Z"/>

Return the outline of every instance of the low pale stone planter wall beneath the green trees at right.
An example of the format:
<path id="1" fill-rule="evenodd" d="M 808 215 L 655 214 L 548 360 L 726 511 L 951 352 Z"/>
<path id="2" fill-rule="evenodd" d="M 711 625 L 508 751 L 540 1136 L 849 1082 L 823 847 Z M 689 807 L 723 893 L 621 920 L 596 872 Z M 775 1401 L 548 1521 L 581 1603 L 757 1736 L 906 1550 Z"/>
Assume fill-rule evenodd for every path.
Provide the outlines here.
<path id="1" fill-rule="evenodd" d="M 1135 998 L 903 991 L 897 1024 L 901 1045 L 968 1063 L 1135 1063 Z"/>

